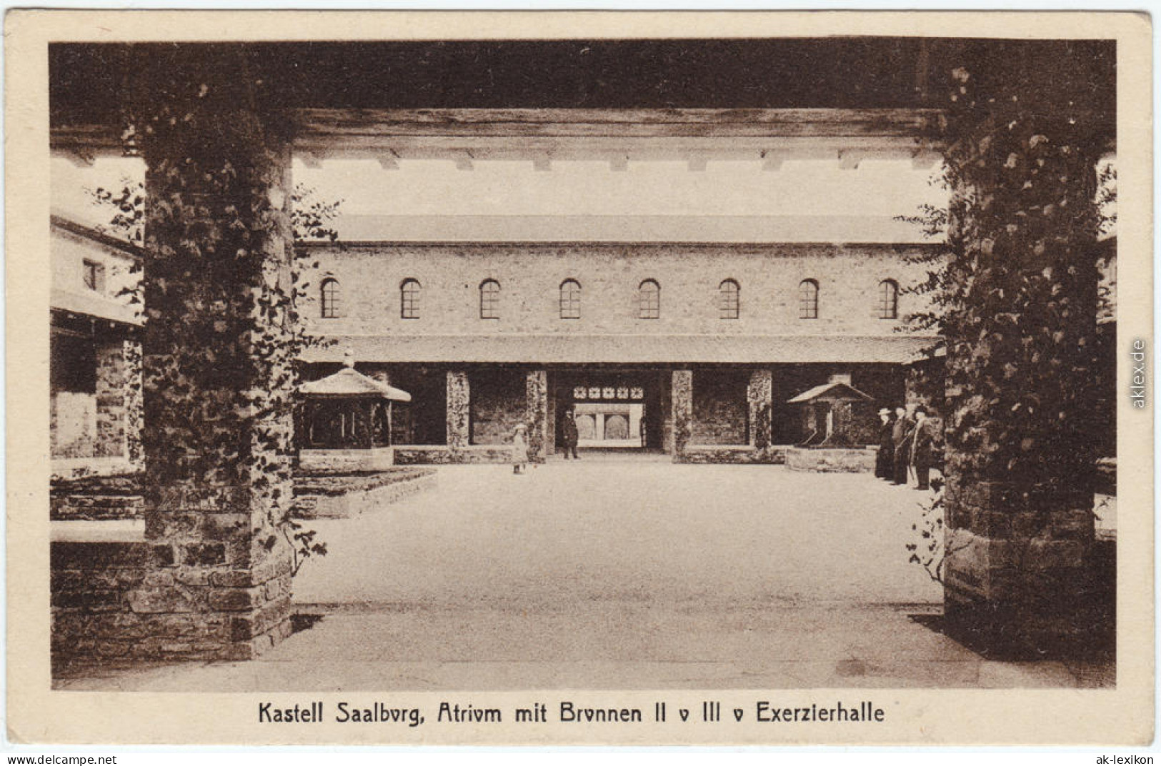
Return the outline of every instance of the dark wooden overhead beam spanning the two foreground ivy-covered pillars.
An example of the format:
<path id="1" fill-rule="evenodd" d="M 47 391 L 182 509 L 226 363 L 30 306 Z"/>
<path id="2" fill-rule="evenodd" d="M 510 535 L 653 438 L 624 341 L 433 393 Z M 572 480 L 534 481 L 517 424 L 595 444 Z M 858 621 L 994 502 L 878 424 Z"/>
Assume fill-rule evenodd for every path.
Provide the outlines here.
<path id="1" fill-rule="evenodd" d="M 222 57 L 232 57 L 237 66 L 210 64 Z M 1015 71 L 1033 84 L 1075 84 L 1090 96 L 1087 101 L 1112 136 L 1115 60 L 1112 41 L 921 37 L 53 43 L 50 124 L 53 149 L 70 142 L 120 146 L 130 86 L 144 84 L 165 93 L 219 77 L 231 85 L 247 84 L 252 103 L 289 113 L 300 133 L 316 138 L 352 127 L 356 132 L 368 124 L 374 129 L 377 110 L 394 113 L 391 135 L 399 132 L 401 110 L 418 116 L 404 121 L 404 131 L 426 135 L 433 110 L 477 109 L 499 115 L 498 128 L 496 121 L 485 121 L 500 131 L 493 135 L 543 131 L 535 124 L 513 128 L 511 115 L 495 111 L 505 109 L 557 110 L 555 117 L 538 118 L 554 125 L 596 124 L 598 132 L 599 115 L 583 113 L 643 110 L 625 115 L 625 121 L 646 131 L 654 123 L 664 135 L 693 137 L 717 136 L 723 127 L 727 133 L 791 135 L 771 133 L 777 127 L 769 120 L 763 125 L 762 115 L 756 121 L 753 110 L 798 111 L 788 115 L 791 122 L 803 116 L 801 110 L 846 110 L 841 122 L 853 124 L 854 135 L 873 135 L 907 128 L 907 113 L 945 108 L 951 70 L 967 66 L 980 78 L 1003 70 L 1005 77 Z M 434 122 L 454 132 L 456 120 L 450 115 Z M 521 121 L 527 122 L 514 122 Z M 481 124 L 461 130 L 488 135 Z M 825 124 L 815 125 L 807 135 L 825 130 Z"/>

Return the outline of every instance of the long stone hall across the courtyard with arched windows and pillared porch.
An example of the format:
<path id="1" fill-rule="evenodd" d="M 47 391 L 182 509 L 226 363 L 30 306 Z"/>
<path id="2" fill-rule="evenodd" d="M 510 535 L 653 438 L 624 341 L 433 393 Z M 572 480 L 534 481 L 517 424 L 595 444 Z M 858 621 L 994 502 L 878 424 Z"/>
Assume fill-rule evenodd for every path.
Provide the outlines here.
<path id="1" fill-rule="evenodd" d="M 936 342 L 911 332 L 924 245 L 411 241 L 311 245 L 305 313 L 411 393 L 396 461 L 503 460 L 519 422 L 540 458 L 565 412 L 582 446 L 676 461 L 778 462 L 805 440 L 788 400 L 835 376 L 881 405 Z M 874 441 L 867 438 L 867 443 Z"/>

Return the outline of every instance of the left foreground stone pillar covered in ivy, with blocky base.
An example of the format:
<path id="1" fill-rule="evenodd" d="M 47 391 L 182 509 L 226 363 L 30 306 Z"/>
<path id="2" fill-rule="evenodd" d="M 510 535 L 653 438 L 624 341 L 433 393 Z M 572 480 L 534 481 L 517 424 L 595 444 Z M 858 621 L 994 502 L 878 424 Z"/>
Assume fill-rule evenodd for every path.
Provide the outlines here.
<path id="1" fill-rule="evenodd" d="M 250 658 L 290 633 L 287 121 L 262 109 L 236 52 L 147 65 L 132 120 L 146 162 L 150 570 L 128 595 L 146 636 L 135 652 Z"/>

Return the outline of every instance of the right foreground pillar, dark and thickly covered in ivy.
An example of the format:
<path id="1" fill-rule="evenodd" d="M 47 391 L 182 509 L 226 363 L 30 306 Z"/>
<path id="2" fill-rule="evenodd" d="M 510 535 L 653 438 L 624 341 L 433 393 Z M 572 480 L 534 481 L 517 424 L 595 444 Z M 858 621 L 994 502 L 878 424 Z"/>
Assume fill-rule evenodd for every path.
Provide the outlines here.
<path id="1" fill-rule="evenodd" d="M 945 616 L 988 652 L 1043 657 L 1091 649 L 1111 609 L 1091 566 L 1096 162 L 1111 133 L 1083 64 L 1068 78 L 1031 56 L 978 64 L 952 73 L 943 127 Z"/>

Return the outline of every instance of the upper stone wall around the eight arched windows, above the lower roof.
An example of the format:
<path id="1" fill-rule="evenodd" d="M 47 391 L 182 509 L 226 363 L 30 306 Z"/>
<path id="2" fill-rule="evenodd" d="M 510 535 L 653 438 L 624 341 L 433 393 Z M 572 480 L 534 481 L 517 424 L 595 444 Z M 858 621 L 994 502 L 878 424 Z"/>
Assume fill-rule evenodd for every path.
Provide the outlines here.
<path id="1" fill-rule="evenodd" d="M 312 332 L 360 334 L 632 333 L 892 335 L 900 321 L 879 317 L 879 283 L 921 282 L 926 266 L 906 256 L 922 245 L 464 243 L 311 246 L 319 273 L 334 275 L 344 316 L 319 318 L 304 306 Z M 418 319 L 399 317 L 398 286 L 421 284 Z M 500 284 L 498 319 L 479 318 L 479 283 Z M 580 318 L 560 317 L 561 282 L 580 283 Z M 717 288 L 741 286 L 737 319 L 721 319 Z M 799 318 L 799 283 L 820 284 L 819 318 Z M 637 287 L 661 286 L 661 316 L 641 319 Z M 312 280 L 317 283 L 317 280 Z M 317 302 L 318 296 L 309 296 Z M 900 291 L 899 315 L 925 310 L 921 296 Z"/>

